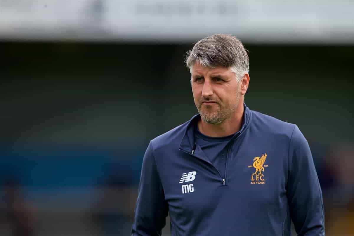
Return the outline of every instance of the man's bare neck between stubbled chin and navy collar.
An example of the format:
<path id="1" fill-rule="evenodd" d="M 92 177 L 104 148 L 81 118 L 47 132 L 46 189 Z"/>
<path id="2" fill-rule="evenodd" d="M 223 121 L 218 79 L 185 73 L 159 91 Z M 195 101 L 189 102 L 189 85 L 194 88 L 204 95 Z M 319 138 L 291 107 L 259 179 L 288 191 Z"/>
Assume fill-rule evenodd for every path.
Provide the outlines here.
<path id="1" fill-rule="evenodd" d="M 240 101 L 232 116 L 228 117 L 218 125 L 199 120 L 198 129 L 202 134 L 210 137 L 225 137 L 232 135 L 241 129 L 244 110 L 243 101 Z"/>

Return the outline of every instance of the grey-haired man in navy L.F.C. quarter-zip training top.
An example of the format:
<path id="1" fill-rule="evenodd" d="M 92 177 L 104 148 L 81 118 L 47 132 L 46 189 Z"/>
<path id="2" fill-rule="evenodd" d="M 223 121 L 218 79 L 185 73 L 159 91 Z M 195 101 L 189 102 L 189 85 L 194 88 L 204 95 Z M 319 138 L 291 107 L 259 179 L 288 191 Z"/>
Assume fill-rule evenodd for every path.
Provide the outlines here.
<path id="1" fill-rule="evenodd" d="M 186 64 L 199 114 L 151 140 L 143 159 L 132 235 L 324 235 L 322 193 L 296 125 L 244 104 L 249 59 L 216 34 Z"/>

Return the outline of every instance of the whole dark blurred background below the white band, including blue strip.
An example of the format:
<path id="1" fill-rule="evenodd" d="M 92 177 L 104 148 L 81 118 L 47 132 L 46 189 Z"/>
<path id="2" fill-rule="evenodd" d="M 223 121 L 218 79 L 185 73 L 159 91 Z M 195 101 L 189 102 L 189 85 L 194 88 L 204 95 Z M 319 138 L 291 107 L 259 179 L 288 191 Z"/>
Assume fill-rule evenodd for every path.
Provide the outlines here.
<path id="1" fill-rule="evenodd" d="M 299 126 L 327 234 L 354 234 L 354 46 L 245 46 L 246 105 Z M 0 43 L 0 234 L 30 224 L 32 235 L 129 235 L 149 140 L 197 112 L 184 66 L 191 48 Z M 13 198 L 21 222 L 8 217 Z"/>

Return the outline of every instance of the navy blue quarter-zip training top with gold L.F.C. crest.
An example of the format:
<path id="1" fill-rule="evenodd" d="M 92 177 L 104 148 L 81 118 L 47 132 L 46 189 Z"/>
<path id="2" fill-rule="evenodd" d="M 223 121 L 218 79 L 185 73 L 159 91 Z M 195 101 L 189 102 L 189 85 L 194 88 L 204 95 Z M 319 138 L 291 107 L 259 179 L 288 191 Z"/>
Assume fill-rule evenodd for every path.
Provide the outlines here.
<path id="1" fill-rule="evenodd" d="M 195 142 L 195 115 L 151 140 L 133 236 L 324 235 L 322 192 L 307 140 L 291 123 L 245 107 L 221 172 Z"/>

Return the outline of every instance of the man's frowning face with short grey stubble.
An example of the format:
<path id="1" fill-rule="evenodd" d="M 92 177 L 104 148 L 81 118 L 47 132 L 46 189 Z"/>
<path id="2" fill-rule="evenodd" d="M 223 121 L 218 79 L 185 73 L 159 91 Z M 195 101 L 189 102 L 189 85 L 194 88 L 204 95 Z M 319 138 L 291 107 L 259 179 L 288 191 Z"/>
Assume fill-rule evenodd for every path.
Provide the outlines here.
<path id="1" fill-rule="evenodd" d="M 219 124 L 231 117 L 241 98 L 241 82 L 230 68 L 192 68 L 192 92 L 201 119 Z"/>

